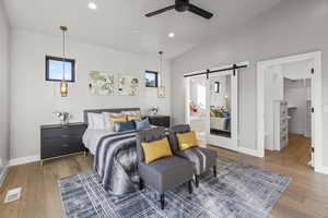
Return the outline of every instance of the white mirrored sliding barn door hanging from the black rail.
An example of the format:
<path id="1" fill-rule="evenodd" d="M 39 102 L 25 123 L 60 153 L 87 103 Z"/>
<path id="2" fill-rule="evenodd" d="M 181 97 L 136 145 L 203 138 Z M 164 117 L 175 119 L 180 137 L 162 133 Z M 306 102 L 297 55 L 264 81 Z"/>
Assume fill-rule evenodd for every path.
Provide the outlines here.
<path id="1" fill-rule="evenodd" d="M 238 74 L 211 73 L 207 92 L 207 136 L 210 145 L 237 150 Z"/>

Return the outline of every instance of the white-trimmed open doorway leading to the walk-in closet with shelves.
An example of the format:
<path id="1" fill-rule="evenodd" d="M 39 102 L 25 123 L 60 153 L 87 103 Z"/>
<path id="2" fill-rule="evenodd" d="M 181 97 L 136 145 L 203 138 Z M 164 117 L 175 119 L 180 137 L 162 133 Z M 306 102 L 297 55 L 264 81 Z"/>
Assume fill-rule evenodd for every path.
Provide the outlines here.
<path id="1" fill-rule="evenodd" d="M 302 156 L 315 170 L 321 166 L 320 56 L 313 52 L 258 63 L 260 156 L 265 150 L 303 150 L 298 159 Z"/>

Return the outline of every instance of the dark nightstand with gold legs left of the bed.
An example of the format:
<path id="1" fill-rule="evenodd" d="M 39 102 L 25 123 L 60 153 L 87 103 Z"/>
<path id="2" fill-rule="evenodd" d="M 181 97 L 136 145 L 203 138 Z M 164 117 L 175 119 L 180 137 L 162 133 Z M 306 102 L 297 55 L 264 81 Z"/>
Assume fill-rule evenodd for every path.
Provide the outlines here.
<path id="1" fill-rule="evenodd" d="M 40 165 L 45 160 L 86 154 L 82 136 L 86 130 L 85 123 L 68 125 L 54 124 L 40 126 Z"/>

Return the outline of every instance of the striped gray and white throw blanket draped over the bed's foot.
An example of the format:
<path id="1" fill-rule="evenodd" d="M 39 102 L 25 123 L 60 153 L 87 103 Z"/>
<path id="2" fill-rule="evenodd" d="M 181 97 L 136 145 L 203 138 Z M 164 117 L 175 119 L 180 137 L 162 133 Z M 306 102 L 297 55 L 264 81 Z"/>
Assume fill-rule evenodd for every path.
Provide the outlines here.
<path id="1" fill-rule="evenodd" d="M 94 170 L 105 191 L 120 195 L 137 190 L 139 182 L 136 131 L 107 134 L 97 142 Z"/>

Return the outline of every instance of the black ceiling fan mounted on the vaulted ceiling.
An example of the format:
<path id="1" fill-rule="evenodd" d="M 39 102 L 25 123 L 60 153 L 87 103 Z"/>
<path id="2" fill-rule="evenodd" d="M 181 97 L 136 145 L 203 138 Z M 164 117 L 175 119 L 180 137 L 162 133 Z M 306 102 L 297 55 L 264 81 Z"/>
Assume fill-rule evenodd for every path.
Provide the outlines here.
<path id="1" fill-rule="evenodd" d="M 194 5 L 189 1 L 190 0 L 175 0 L 175 4 L 174 5 L 169 5 L 169 7 L 166 7 L 164 9 L 160 9 L 157 11 L 148 13 L 148 14 L 145 14 L 145 16 L 147 17 L 151 17 L 151 16 L 164 13 L 164 12 L 173 10 L 173 9 L 175 9 L 178 12 L 190 11 L 191 13 L 195 13 L 195 14 L 197 14 L 199 16 L 204 17 L 204 19 L 211 19 L 213 16 L 212 13 L 210 13 L 210 12 L 203 10 L 203 9 L 200 9 L 200 8 L 196 7 L 196 5 Z"/>

